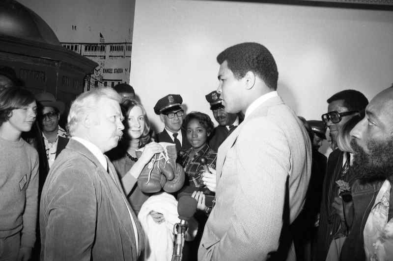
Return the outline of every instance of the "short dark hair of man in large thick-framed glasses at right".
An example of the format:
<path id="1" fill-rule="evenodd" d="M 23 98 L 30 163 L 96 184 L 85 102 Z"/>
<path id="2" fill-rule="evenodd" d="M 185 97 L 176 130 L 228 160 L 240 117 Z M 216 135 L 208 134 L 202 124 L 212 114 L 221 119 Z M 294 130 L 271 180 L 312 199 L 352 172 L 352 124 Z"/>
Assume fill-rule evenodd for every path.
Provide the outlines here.
<path id="1" fill-rule="evenodd" d="M 368 100 L 364 94 L 355 90 L 344 90 L 330 97 L 327 102 L 331 103 L 342 100 L 342 105 L 348 111 L 362 111 L 368 104 Z"/>

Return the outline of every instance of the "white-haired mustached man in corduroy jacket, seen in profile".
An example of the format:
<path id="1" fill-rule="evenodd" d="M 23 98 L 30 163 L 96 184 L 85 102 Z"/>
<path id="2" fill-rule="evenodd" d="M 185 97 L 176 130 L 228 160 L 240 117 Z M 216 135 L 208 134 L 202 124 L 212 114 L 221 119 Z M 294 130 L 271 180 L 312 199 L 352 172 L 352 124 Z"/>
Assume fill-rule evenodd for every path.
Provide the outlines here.
<path id="1" fill-rule="evenodd" d="M 137 216 L 103 154 L 122 136 L 120 101 L 105 88 L 71 104 L 67 128 L 72 138 L 41 195 L 41 260 L 136 261 L 144 247 Z"/>

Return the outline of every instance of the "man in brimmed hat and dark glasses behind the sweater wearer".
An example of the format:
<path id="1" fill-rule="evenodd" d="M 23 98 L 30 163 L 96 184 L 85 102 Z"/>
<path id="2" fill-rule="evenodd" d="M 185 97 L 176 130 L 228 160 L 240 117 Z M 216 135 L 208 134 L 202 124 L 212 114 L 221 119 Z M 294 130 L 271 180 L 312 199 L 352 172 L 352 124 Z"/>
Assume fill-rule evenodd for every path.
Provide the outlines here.
<path id="1" fill-rule="evenodd" d="M 41 93 L 35 98 L 39 109 L 37 120 L 41 127 L 50 168 L 69 140 L 66 131 L 58 125 L 60 115 L 64 112 L 64 102 L 56 101 L 51 93 Z"/>

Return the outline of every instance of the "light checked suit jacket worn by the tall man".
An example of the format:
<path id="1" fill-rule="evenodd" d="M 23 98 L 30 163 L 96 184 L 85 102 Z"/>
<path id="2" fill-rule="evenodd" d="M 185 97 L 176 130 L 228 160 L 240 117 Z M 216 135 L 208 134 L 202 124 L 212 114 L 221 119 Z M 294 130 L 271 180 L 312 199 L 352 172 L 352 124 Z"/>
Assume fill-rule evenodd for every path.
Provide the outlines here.
<path id="1" fill-rule="evenodd" d="M 217 203 L 198 260 L 285 260 L 291 238 L 288 247 L 281 244 L 302 210 L 310 173 L 303 124 L 281 97 L 268 99 L 218 150 Z"/>

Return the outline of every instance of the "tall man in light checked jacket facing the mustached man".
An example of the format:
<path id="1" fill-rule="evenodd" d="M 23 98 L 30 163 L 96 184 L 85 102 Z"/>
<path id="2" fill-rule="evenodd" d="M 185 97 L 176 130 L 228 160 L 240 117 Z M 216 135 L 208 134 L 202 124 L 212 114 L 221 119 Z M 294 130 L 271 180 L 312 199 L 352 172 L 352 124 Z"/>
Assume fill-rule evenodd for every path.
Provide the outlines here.
<path id="1" fill-rule="evenodd" d="M 277 66 L 266 47 L 235 45 L 217 61 L 225 112 L 245 119 L 218 150 L 216 206 L 198 260 L 295 260 L 288 226 L 309 184 L 308 134 L 276 92 Z"/>

